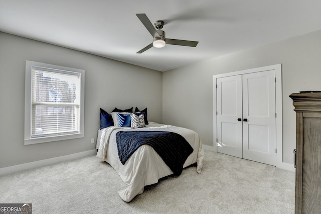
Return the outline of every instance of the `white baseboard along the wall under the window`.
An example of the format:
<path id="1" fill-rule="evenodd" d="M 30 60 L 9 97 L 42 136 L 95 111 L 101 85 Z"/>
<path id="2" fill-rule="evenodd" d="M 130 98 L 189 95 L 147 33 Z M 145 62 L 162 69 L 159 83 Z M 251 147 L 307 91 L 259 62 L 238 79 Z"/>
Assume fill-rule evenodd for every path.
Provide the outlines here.
<path id="1" fill-rule="evenodd" d="M 45 159 L 45 160 L 23 163 L 23 164 L 19 164 L 19 165 L 15 165 L 15 166 L 8 166 L 8 167 L 0 168 L 0 176 L 5 175 L 5 174 L 19 172 L 19 171 L 24 171 L 24 170 L 28 170 L 28 169 L 34 169 L 34 168 L 38 168 L 38 167 L 42 167 L 42 166 L 47 166 L 47 165 L 51 165 L 51 164 L 56 164 L 56 163 L 60 163 L 63 161 L 75 160 L 78 158 L 83 158 L 83 157 L 87 157 L 90 155 L 94 155 L 96 153 L 97 153 L 97 150 L 94 149 L 94 150 L 88 150 L 85 152 L 78 152 L 78 153 L 64 155 L 64 156 L 55 157 L 55 158 L 49 158 L 49 159 Z"/>

